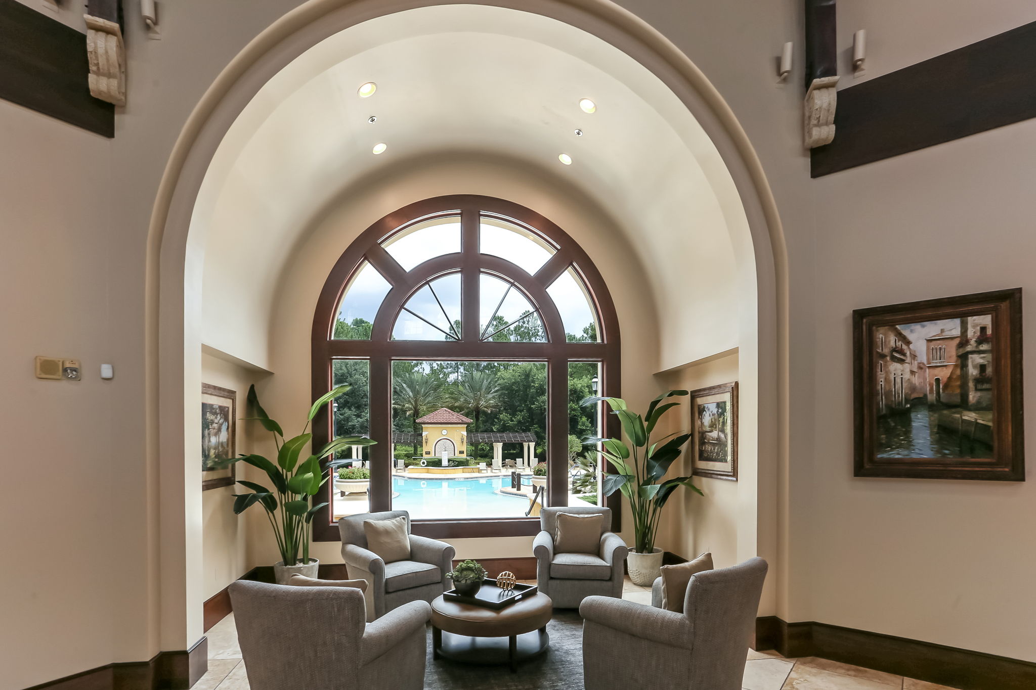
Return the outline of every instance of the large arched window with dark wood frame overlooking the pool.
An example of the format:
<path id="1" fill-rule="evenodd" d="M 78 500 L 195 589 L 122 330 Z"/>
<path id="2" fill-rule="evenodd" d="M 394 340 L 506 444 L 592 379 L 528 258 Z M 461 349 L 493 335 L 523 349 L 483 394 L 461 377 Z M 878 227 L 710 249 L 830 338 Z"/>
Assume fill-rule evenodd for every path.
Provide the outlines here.
<path id="1" fill-rule="evenodd" d="M 312 353 L 314 398 L 352 386 L 314 447 L 378 442 L 342 454 L 357 472 L 327 483 L 317 540 L 391 509 L 425 536 L 533 535 L 530 504 L 606 501 L 600 468 L 573 456 L 603 431 L 580 399 L 618 395 L 617 320 L 586 253 L 534 211 L 453 196 L 381 218 L 327 277 Z"/>

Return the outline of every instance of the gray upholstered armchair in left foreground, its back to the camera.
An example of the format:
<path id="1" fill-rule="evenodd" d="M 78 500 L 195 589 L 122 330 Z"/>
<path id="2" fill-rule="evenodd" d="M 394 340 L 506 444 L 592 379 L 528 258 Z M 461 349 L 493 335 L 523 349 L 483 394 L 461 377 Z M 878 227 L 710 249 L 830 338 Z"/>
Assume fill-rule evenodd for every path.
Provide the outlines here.
<path id="1" fill-rule="evenodd" d="M 432 607 L 364 621 L 364 595 L 338 587 L 230 586 L 252 690 L 421 690 Z"/>

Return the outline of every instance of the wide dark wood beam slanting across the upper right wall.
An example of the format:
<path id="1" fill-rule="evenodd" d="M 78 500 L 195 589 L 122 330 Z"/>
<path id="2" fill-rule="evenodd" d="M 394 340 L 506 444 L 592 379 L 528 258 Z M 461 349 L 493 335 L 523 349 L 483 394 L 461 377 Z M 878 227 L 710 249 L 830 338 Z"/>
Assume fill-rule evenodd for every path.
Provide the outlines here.
<path id="1" fill-rule="evenodd" d="M 822 177 L 1036 117 L 1036 22 L 838 92 Z"/>

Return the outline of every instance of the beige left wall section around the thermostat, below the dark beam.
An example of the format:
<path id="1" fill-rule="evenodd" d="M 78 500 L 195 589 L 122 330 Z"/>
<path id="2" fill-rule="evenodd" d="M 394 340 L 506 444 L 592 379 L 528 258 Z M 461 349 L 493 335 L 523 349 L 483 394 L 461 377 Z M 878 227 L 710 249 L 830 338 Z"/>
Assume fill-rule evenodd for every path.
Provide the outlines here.
<path id="1" fill-rule="evenodd" d="M 0 151 L 6 690 L 109 663 L 115 580 L 133 591 L 144 572 L 120 556 L 121 518 L 142 503 L 128 496 L 141 453 L 117 443 L 132 420 L 112 413 L 139 390 L 111 341 L 111 145 L 0 100 Z M 82 381 L 35 379 L 35 355 L 80 360 Z M 111 381 L 100 379 L 105 362 L 115 364 Z"/>

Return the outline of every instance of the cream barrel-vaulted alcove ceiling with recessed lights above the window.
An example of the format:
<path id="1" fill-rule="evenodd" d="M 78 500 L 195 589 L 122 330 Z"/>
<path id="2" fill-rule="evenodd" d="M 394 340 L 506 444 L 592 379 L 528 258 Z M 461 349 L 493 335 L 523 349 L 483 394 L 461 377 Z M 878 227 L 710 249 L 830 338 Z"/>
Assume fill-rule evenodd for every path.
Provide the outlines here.
<path id="1" fill-rule="evenodd" d="M 362 98 L 366 82 L 377 90 Z M 597 112 L 580 110 L 582 97 Z M 377 143 L 387 147 L 379 155 Z M 372 178 L 391 188 L 385 171 L 458 155 L 536 171 L 613 220 L 660 314 L 657 368 L 738 346 L 737 273 L 754 267 L 736 261 L 731 232 L 744 230 L 744 211 L 728 176 L 715 174 L 725 169 L 701 126 L 605 41 L 542 16 L 474 5 L 356 25 L 296 58 L 252 99 L 221 144 L 192 219 L 191 232 L 206 237 L 203 341 L 266 366 L 277 277 L 317 215 Z M 368 222 L 412 201 L 386 201 Z"/>

